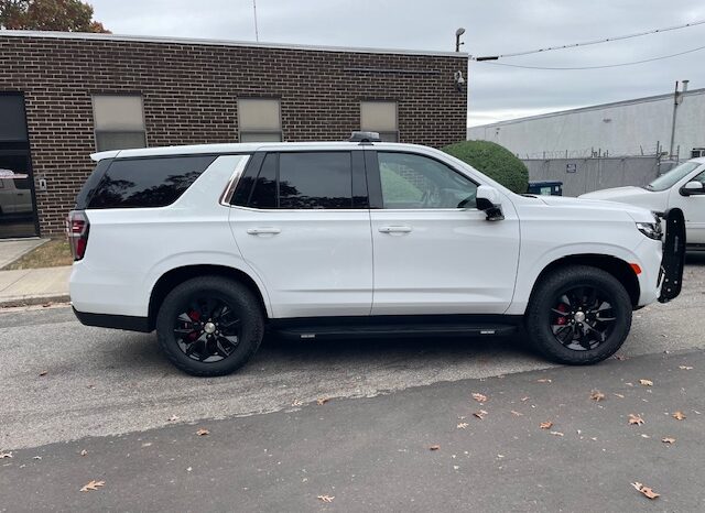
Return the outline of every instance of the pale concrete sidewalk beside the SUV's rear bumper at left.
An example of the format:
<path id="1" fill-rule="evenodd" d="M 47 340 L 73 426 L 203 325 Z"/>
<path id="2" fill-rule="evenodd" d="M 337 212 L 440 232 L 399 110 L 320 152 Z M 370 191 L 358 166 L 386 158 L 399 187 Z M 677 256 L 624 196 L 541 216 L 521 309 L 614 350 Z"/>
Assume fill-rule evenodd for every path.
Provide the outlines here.
<path id="1" fill-rule="evenodd" d="M 0 308 L 67 303 L 70 265 L 0 271 Z"/>

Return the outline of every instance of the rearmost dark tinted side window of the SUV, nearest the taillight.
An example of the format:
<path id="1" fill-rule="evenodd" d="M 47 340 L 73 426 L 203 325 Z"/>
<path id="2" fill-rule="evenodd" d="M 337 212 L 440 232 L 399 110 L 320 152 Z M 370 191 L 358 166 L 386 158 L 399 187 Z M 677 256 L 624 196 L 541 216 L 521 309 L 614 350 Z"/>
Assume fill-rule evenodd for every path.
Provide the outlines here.
<path id="1" fill-rule="evenodd" d="M 139 208 L 171 205 L 217 156 L 116 159 L 88 208 Z"/>

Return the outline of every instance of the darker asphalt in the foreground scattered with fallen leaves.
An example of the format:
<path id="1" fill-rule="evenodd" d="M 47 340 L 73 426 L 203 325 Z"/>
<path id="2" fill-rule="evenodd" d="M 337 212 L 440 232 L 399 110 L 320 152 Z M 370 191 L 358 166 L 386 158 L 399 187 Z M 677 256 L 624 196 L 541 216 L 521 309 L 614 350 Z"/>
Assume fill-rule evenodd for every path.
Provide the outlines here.
<path id="1" fill-rule="evenodd" d="M 704 412 L 702 350 L 442 382 L 15 450 L 0 511 L 705 511 Z"/>

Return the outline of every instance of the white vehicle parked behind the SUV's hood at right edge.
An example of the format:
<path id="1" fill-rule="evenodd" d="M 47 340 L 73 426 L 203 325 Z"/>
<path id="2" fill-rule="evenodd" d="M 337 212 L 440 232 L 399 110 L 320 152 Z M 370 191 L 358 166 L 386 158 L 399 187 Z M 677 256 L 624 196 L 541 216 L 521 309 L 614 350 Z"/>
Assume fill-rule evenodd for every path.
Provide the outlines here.
<path id="1" fill-rule="evenodd" d="M 579 197 L 626 203 L 655 212 L 680 208 L 688 249 L 705 249 L 705 159 L 684 162 L 646 187 L 617 187 Z"/>

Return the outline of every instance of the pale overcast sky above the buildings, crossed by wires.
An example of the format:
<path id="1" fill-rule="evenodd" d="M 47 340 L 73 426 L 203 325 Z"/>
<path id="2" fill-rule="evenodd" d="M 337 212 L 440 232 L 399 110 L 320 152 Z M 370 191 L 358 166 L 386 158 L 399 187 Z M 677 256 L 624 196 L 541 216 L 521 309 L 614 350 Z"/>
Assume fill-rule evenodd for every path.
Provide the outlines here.
<path id="1" fill-rule="evenodd" d="M 89 0 L 116 34 L 254 41 L 252 0 Z M 257 0 L 262 42 L 496 55 L 705 19 L 703 0 Z M 528 66 L 618 64 L 705 46 L 705 25 L 499 61 Z M 470 63 L 469 124 L 705 87 L 705 50 L 636 66 L 533 70 Z"/>

